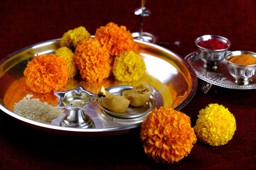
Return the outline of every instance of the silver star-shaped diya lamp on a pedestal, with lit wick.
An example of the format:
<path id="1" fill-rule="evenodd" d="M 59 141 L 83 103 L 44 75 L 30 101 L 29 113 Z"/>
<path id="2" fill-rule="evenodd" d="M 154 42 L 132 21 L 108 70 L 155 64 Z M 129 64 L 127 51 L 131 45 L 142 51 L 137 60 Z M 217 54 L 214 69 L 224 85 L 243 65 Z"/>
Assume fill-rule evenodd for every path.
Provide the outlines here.
<path id="1" fill-rule="evenodd" d="M 88 106 L 102 94 L 92 94 L 83 86 L 68 91 L 56 91 L 58 108 L 66 108 L 69 113 L 60 121 L 60 126 L 70 128 L 95 128 L 92 118 L 85 113 Z"/>

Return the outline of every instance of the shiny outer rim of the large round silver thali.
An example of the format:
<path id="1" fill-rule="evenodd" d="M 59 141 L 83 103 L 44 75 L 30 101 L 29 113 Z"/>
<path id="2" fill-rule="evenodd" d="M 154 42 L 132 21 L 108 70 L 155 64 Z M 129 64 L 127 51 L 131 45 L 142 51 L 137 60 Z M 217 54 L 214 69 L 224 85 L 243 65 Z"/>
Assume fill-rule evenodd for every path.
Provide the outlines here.
<path id="1" fill-rule="evenodd" d="M 92 35 L 92 37 L 94 37 L 94 36 Z M 12 53 L 11 55 L 6 56 L 4 58 L 4 60 L 0 61 L 0 64 L 5 62 L 8 58 L 18 54 L 19 52 L 23 52 L 24 50 L 28 50 L 33 47 L 35 48 L 36 46 L 44 44 L 44 43 L 51 44 L 58 40 L 61 40 L 61 38 L 57 38 L 57 39 L 53 39 L 53 40 L 46 40 L 43 42 L 38 42 L 36 44 L 30 45 L 28 47 L 24 47 L 21 50 L 17 50 L 16 52 Z M 150 42 L 144 42 L 142 40 L 134 40 L 134 42 L 139 42 L 144 45 L 149 45 L 149 46 L 159 49 L 163 52 L 166 52 L 169 55 L 173 55 L 174 57 L 176 57 L 179 61 L 181 61 L 186 66 L 186 68 L 188 69 L 188 72 L 191 75 L 192 86 L 191 86 L 191 91 L 188 93 L 186 100 L 183 101 L 182 103 L 180 103 L 176 108 L 174 108 L 176 111 L 181 110 L 181 108 L 186 106 L 186 104 L 189 101 L 191 101 L 193 96 L 196 94 L 196 90 L 198 87 L 198 79 L 196 76 L 196 72 L 194 72 L 193 68 L 191 67 L 190 64 L 188 64 L 188 62 L 186 60 L 184 60 L 180 55 L 172 52 L 171 50 L 168 50 L 168 49 L 161 47 L 159 45 L 156 45 L 156 44 L 152 44 Z M 21 122 L 25 125 L 28 125 L 32 128 L 36 128 L 38 130 L 43 130 L 46 132 L 52 132 L 55 134 L 61 134 L 61 135 L 78 135 L 78 136 L 120 135 L 120 134 L 123 134 L 124 132 L 132 130 L 134 128 L 138 128 L 142 125 L 142 123 L 136 123 L 136 124 L 132 124 L 132 125 L 125 125 L 122 127 L 114 127 L 114 128 L 94 128 L 94 129 L 66 128 L 66 127 L 61 127 L 61 126 L 56 126 L 56 125 L 48 125 L 46 123 L 39 123 L 34 120 L 29 120 L 27 118 L 22 117 L 21 115 L 17 115 L 16 113 L 10 111 L 6 107 L 4 107 L 1 103 L 0 103 L 0 110 L 4 111 L 4 113 L 7 113 L 7 115 L 11 116 L 12 118 L 15 118 L 15 120 L 18 120 L 19 122 Z M 124 132 L 122 132 L 122 131 L 124 131 Z"/>

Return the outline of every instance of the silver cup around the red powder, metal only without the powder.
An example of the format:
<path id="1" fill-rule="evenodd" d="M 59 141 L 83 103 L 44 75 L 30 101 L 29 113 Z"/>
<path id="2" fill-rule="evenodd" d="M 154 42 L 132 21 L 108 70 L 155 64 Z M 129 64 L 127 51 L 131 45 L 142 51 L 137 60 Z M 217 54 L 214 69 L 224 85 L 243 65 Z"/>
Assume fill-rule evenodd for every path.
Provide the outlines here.
<path id="1" fill-rule="evenodd" d="M 218 39 L 221 42 L 225 43 L 228 47 L 221 50 L 209 50 L 207 48 L 201 47 L 198 43 L 203 40 L 215 40 Z M 227 38 L 224 38 L 219 35 L 202 35 L 201 37 L 196 38 L 196 46 L 198 47 L 198 55 L 203 61 L 203 67 L 207 69 L 218 69 L 220 67 L 220 62 L 224 59 L 225 54 L 227 53 L 228 48 L 231 43 Z"/>

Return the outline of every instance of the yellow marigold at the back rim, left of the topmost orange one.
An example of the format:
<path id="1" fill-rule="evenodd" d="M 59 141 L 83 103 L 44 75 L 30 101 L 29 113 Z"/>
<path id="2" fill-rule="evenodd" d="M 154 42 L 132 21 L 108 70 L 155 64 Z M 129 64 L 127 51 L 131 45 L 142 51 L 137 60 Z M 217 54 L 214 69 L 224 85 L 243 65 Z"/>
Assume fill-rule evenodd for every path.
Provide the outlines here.
<path id="1" fill-rule="evenodd" d="M 86 30 L 85 27 L 80 26 L 73 30 L 68 30 L 68 32 L 64 33 L 63 37 L 60 40 L 60 45 L 62 47 L 76 47 L 79 42 L 85 40 L 86 38 L 90 38 L 90 33 Z"/>

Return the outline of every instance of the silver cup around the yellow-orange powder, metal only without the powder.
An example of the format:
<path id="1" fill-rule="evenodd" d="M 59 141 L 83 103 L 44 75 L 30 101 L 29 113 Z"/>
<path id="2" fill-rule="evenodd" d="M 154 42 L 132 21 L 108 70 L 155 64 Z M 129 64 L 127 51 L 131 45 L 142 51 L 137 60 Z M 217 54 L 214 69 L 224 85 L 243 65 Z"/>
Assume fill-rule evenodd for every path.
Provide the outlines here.
<path id="1" fill-rule="evenodd" d="M 252 55 L 256 57 L 255 52 L 233 51 L 228 52 L 228 54 L 225 55 L 225 60 L 228 62 L 228 72 L 234 77 L 233 81 L 235 82 L 235 84 L 248 85 L 252 83 L 251 78 L 255 76 L 256 64 L 240 65 L 228 61 L 228 58 L 242 54 Z"/>

